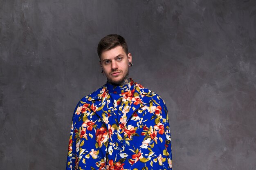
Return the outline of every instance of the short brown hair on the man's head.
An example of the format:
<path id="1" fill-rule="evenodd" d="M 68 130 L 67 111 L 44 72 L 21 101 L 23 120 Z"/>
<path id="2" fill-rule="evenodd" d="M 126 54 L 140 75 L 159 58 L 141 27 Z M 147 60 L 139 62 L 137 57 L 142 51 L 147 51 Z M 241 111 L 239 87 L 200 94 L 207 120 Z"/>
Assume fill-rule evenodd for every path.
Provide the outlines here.
<path id="1" fill-rule="evenodd" d="M 110 50 L 110 49 L 115 48 L 116 46 L 123 47 L 124 52 L 126 54 L 129 53 L 126 40 L 121 35 L 110 34 L 110 35 L 107 35 L 106 37 L 102 38 L 99 41 L 98 50 L 97 50 L 99 57 L 101 58 L 101 53 L 104 50 Z"/>

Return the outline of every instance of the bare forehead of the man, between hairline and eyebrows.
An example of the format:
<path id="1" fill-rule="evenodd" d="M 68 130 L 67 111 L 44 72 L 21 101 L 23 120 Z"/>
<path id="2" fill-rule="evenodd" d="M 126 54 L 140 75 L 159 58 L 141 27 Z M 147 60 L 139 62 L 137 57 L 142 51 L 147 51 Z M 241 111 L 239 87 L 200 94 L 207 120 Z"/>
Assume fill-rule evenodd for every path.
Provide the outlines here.
<path id="1" fill-rule="evenodd" d="M 113 49 L 104 50 L 101 53 L 101 60 L 112 59 L 120 55 L 126 56 L 126 53 L 122 46 L 116 46 Z"/>

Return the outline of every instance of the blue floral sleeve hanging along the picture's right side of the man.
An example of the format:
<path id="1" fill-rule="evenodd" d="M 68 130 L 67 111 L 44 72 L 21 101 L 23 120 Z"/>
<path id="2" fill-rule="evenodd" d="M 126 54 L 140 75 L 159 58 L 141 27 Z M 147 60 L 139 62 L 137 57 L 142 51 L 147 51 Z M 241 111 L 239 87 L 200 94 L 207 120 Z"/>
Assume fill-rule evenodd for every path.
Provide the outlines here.
<path id="1" fill-rule="evenodd" d="M 168 119 L 168 110 L 164 103 L 164 100 L 161 99 L 162 108 L 162 122 L 164 125 L 164 134 L 165 134 L 165 150 L 163 151 L 163 158 L 167 160 L 168 170 L 172 170 L 172 150 L 171 150 L 171 133 L 170 133 L 170 124 Z"/>

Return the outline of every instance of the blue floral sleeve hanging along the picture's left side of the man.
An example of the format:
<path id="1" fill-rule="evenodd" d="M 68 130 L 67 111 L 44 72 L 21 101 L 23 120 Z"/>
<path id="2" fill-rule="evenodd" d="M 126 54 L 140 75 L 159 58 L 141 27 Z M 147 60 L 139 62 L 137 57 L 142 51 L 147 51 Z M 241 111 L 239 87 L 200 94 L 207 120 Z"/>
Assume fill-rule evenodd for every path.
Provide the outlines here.
<path id="1" fill-rule="evenodd" d="M 72 126 L 70 130 L 70 138 L 69 138 L 69 144 L 68 144 L 68 153 L 67 153 L 67 165 L 66 170 L 74 170 L 76 166 L 76 139 L 75 139 L 75 133 L 74 126 L 76 124 L 76 120 L 78 116 L 76 115 L 76 110 L 79 107 L 80 102 L 76 105 L 76 108 L 73 113 L 72 117 Z"/>

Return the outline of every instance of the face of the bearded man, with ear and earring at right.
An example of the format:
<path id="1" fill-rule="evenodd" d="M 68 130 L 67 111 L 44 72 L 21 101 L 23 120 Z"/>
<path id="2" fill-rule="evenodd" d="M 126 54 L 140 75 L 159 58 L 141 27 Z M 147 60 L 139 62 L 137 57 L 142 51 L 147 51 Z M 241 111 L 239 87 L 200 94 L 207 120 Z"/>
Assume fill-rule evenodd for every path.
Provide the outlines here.
<path id="1" fill-rule="evenodd" d="M 111 84 L 121 84 L 128 75 L 128 62 L 132 62 L 132 55 L 124 52 L 122 46 L 101 53 L 101 67 Z"/>

